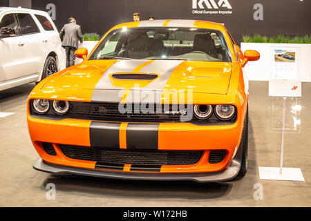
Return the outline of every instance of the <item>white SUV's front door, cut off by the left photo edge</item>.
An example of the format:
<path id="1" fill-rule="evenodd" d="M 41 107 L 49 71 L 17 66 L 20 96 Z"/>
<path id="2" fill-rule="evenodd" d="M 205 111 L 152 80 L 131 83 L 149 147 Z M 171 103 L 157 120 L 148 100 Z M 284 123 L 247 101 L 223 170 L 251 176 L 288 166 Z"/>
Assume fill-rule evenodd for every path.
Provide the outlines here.
<path id="1" fill-rule="evenodd" d="M 0 19 L 0 28 L 10 27 L 15 30 L 14 37 L 0 39 L 0 82 L 17 79 L 26 74 L 23 69 L 23 52 L 21 37 L 19 35 L 18 23 L 14 13 L 7 13 Z"/>

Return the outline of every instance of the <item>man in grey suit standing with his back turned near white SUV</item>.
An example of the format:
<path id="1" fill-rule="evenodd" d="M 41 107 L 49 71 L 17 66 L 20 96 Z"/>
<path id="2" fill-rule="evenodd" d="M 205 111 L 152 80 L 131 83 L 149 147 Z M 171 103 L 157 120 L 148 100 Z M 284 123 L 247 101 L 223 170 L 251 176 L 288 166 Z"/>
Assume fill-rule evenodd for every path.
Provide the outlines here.
<path id="1" fill-rule="evenodd" d="M 78 49 L 79 40 L 83 42 L 81 26 L 77 25 L 75 18 L 70 17 L 68 23 L 59 32 L 62 39 L 62 46 L 66 51 L 66 68 L 75 65 L 75 50 Z"/>

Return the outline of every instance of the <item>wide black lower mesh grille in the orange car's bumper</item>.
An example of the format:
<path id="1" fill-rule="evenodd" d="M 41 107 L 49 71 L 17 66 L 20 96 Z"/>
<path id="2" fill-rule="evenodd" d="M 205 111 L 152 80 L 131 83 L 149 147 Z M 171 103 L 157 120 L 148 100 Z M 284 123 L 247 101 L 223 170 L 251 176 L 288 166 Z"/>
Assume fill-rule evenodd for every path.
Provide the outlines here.
<path id="1" fill-rule="evenodd" d="M 135 164 L 144 166 L 196 164 L 203 151 L 142 151 L 112 150 L 59 144 L 66 157 L 95 161 L 101 164 Z"/>

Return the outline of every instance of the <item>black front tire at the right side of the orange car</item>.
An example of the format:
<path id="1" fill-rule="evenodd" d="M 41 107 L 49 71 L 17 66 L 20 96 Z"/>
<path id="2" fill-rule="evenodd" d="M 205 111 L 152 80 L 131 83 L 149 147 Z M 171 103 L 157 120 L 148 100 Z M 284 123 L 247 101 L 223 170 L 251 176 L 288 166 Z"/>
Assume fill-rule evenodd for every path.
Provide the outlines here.
<path id="1" fill-rule="evenodd" d="M 244 121 L 244 128 L 243 128 L 243 153 L 242 153 L 242 160 L 241 160 L 241 168 L 238 171 L 239 177 L 244 177 L 247 172 L 247 154 L 248 154 L 248 107 L 246 111 L 246 117 Z"/>

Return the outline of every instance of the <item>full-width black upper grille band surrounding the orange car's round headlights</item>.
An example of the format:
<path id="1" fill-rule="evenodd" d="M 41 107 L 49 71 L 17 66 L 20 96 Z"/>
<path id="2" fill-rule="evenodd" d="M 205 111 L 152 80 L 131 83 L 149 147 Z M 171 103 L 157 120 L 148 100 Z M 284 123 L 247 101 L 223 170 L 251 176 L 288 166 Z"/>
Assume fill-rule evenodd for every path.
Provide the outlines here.
<path id="1" fill-rule="evenodd" d="M 193 105 L 176 104 L 119 104 L 118 102 L 69 102 L 68 113 L 57 115 L 50 108 L 44 115 L 32 111 L 32 117 L 45 119 L 91 119 L 107 122 L 149 122 L 149 123 L 179 123 L 229 125 L 236 121 L 236 115 L 229 121 L 222 121 L 213 113 L 209 119 L 198 119 L 193 115 Z M 120 105 L 120 107 L 119 107 Z M 30 102 L 32 106 L 32 101 Z M 50 101 L 52 106 L 52 101 Z"/>

